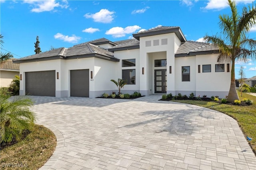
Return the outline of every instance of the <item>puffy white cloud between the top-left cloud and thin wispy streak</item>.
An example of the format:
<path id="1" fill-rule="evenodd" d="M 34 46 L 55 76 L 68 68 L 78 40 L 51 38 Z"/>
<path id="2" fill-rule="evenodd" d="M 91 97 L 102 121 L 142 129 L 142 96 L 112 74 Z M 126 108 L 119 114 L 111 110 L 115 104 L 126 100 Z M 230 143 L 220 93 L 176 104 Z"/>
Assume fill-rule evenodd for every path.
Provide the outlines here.
<path id="1" fill-rule="evenodd" d="M 114 11 L 101 9 L 95 14 L 87 13 L 84 15 L 85 18 L 92 18 L 95 22 L 111 23 L 114 20 Z"/>

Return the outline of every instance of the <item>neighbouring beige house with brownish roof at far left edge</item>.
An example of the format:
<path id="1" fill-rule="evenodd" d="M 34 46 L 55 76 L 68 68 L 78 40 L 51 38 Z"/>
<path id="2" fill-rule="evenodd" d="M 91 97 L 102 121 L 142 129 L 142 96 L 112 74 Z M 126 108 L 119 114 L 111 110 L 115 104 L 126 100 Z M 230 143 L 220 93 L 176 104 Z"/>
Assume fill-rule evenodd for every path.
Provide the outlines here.
<path id="1" fill-rule="evenodd" d="M 15 76 L 20 75 L 20 64 L 13 63 L 12 60 L 2 61 L 0 63 L 0 86 L 10 86 Z"/>

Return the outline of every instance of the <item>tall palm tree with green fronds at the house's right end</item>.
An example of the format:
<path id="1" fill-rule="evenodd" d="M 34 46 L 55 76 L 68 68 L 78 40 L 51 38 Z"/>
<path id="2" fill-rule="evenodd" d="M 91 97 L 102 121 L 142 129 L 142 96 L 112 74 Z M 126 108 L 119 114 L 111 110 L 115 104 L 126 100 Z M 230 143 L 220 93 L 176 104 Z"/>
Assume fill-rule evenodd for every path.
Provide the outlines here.
<path id="1" fill-rule="evenodd" d="M 222 34 L 219 36 L 206 34 L 204 41 L 219 47 L 219 62 L 224 60 L 232 62 L 231 83 L 227 100 L 233 102 L 239 100 L 235 84 L 235 61 L 247 62 L 249 59 L 256 59 L 256 41 L 246 37 L 250 28 L 256 25 L 256 8 L 253 4 L 252 7 L 249 6 L 249 9 L 244 7 L 240 16 L 235 1 L 228 0 L 228 5 L 232 12 L 231 16 L 226 14 L 219 16 Z"/>

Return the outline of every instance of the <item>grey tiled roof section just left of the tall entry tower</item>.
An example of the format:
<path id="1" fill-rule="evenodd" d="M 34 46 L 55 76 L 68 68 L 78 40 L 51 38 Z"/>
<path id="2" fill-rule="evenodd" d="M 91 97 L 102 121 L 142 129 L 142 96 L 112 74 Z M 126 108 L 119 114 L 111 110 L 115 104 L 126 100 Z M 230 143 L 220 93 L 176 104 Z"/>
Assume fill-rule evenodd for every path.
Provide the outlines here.
<path id="1" fill-rule="evenodd" d="M 109 48 L 108 51 L 121 51 L 140 48 L 140 41 L 138 41 L 137 39 L 127 39 L 122 41 L 116 41 L 114 43 L 118 45 Z"/>

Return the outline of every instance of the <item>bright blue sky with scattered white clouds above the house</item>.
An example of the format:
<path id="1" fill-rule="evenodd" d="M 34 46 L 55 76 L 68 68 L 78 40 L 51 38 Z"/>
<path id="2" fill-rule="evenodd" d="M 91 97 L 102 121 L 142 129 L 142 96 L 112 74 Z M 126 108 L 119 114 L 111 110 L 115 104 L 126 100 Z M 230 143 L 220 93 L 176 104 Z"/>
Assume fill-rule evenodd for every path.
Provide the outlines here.
<path id="1" fill-rule="evenodd" d="M 0 0 L 1 51 L 14 58 L 34 54 L 39 36 L 42 52 L 51 46 L 72 47 L 98 38 L 119 41 L 158 25 L 179 26 L 187 40 L 202 41 L 220 32 L 218 16 L 230 14 L 226 0 L 99 1 L 99 0 Z M 252 0 L 237 0 L 238 10 Z M 255 4 L 255 0 L 254 0 Z M 248 34 L 256 39 L 256 27 Z M 4 50 L 3 50 L 4 49 Z M 256 76 L 256 61 L 236 63 L 236 78 L 244 66 L 246 78 Z"/>

